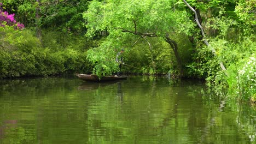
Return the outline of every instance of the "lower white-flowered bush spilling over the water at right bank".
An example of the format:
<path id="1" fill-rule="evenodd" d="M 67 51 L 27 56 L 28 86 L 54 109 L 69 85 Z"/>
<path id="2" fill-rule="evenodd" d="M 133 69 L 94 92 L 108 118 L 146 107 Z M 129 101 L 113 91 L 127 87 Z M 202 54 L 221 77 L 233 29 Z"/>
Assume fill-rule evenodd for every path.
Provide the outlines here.
<path id="1" fill-rule="evenodd" d="M 255 94 L 255 56 L 256 44 L 253 38 L 245 38 L 240 43 L 224 39 L 213 40 L 210 44 L 217 47 L 217 57 L 212 57 L 209 49 L 199 49 L 201 63 L 190 65 L 190 73 L 206 77 L 207 85 L 221 97 L 248 100 Z M 219 61 L 225 63 L 228 76 L 219 68 Z M 194 72 L 192 72 L 194 71 Z M 255 96 L 254 96 L 255 97 Z"/>

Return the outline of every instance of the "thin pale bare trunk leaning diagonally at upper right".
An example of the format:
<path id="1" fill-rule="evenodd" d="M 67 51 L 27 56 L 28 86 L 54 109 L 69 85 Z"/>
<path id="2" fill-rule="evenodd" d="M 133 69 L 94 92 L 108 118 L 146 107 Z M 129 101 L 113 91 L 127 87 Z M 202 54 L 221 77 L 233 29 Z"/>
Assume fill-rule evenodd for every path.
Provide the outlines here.
<path id="1" fill-rule="evenodd" d="M 206 37 L 205 37 L 205 32 L 203 32 L 203 28 L 202 28 L 202 26 L 201 26 L 201 24 L 200 24 L 200 22 L 199 22 L 198 17 L 197 17 L 196 10 L 195 10 L 194 8 L 192 8 L 192 7 L 187 3 L 187 1 L 183 0 L 183 2 L 187 5 L 187 7 L 189 7 L 190 10 L 192 10 L 192 11 L 194 12 L 196 25 L 199 26 L 199 28 L 200 28 L 200 30 L 201 30 L 201 34 L 202 34 L 202 37 L 203 37 L 203 41 L 205 42 L 205 44 L 206 44 L 207 46 L 210 47 L 210 49 L 211 49 L 213 55 L 216 56 L 216 51 L 213 49 L 212 46 L 210 46 L 210 44 L 208 43 L 208 41 L 207 41 L 207 39 L 206 39 Z M 222 68 L 222 70 L 224 71 L 224 73 L 225 73 L 226 75 L 228 75 L 228 73 L 226 73 L 226 68 L 225 68 L 224 64 L 223 64 L 222 62 L 219 62 L 219 64 L 220 64 L 220 68 Z"/>

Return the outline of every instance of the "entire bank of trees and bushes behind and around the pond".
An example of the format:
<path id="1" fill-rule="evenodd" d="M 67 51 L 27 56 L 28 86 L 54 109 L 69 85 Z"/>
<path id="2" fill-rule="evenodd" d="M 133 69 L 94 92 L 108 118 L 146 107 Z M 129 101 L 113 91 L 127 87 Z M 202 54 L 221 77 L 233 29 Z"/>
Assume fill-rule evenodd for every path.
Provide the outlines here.
<path id="1" fill-rule="evenodd" d="M 255 1 L 188 0 L 205 37 L 184 2 L 4 0 L 0 77 L 115 74 L 124 49 L 124 73 L 206 79 L 222 98 L 255 101 Z"/>

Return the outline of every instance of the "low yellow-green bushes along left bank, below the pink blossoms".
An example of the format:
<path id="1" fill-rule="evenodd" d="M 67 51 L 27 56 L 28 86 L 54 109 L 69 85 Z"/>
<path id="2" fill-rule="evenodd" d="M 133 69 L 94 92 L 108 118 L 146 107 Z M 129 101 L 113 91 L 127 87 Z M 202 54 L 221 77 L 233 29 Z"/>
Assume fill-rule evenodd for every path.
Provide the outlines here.
<path id="1" fill-rule="evenodd" d="M 32 32 L 12 27 L 0 28 L 0 77 L 55 75 L 75 71 L 89 73 L 86 51 L 45 48 Z"/>

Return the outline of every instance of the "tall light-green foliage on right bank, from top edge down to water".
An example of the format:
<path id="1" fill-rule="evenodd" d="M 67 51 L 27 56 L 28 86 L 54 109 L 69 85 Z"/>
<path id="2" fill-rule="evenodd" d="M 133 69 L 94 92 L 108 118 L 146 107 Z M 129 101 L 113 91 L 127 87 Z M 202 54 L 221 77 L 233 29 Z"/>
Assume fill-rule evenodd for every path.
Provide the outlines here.
<path id="1" fill-rule="evenodd" d="M 217 56 L 213 57 L 208 47 L 197 45 L 197 53 L 194 55 L 196 62 L 188 67 L 191 76 L 205 78 L 208 87 L 220 97 L 255 101 L 255 2 L 239 1 L 237 5 L 231 1 L 228 3 L 217 7 L 221 8 L 218 14 L 201 14 L 211 14 L 207 15 L 203 28 L 211 37 L 210 45 L 216 50 Z M 232 16 L 228 15 L 230 13 Z M 224 63 L 228 75 L 219 68 L 219 62 Z"/>

